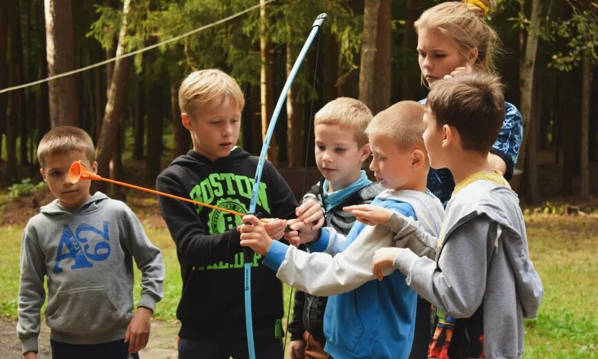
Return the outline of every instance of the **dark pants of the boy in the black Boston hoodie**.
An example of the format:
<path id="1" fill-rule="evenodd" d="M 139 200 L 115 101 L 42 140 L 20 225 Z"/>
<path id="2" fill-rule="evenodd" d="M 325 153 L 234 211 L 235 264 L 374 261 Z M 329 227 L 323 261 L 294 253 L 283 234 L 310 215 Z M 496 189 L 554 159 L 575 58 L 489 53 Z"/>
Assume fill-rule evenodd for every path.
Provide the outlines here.
<path id="1" fill-rule="evenodd" d="M 282 359 L 280 339 L 254 338 L 255 357 L 259 359 Z M 179 359 L 234 359 L 249 358 L 246 339 L 234 338 L 180 338 Z"/>

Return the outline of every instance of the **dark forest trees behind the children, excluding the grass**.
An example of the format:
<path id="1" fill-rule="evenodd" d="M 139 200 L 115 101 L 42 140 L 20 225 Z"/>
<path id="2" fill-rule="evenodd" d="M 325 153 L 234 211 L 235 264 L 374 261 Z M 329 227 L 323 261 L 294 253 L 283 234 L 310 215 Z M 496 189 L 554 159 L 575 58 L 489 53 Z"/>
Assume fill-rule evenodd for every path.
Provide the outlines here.
<path id="1" fill-rule="evenodd" d="M 426 96 L 413 22 L 438 2 L 0 1 L 0 91 L 155 45 L 254 7 L 132 57 L 1 92 L 0 187 L 26 178 L 37 183 L 37 143 L 51 127 L 66 124 L 92 135 L 100 174 L 111 168 L 111 178 L 123 178 L 131 167 L 123 161 L 137 160 L 132 178 L 153 184 L 170 159 L 190 149 L 177 89 L 188 72 L 201 68 L 220 68 L 239 81 L 247 99 L 239 144 L 259 154 L 290 67 L 315 17 L 326 12 L 328 21 L 287 96 L 268 156 L 281 172 L 302 172 L 306 154 L 313 168 L 308 125 L 324 103 L 350 96 L 377 113 L 397 101 Z M 575 0 L 497 4 L 489 21 L 502 41 L 498 71 L 507 101 L 519 107 L 525 124 L 517 164 L 522 176 L 515 176 L 513 185 L 526 203 L 555 196 L 586 201 L 598 191 L 593 180 L 598 5 Z M 298 193 L 297 186 L 292 183 Z"/>

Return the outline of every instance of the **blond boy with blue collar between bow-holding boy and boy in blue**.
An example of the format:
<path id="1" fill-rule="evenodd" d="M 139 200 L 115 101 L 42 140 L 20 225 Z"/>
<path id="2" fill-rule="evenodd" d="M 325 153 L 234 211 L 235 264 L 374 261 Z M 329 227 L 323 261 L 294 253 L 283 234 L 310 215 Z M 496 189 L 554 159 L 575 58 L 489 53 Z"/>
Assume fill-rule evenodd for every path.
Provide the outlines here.
<path id="1" fill-rule="evenodd" d="M 372 183 L 361 170 L 370 156 L 366 127 L 372 117 L 365 103 L 348 97 L 326 103 L 315 114 L 315 158 L 322 178 L 303 196 L 303 205 L 297 210 L 298 220 L 310 222 L 308 207 L 310 200 L 315 201 L 321 206 L 320 212 L 323 210 L 323 225 L 346 235 L 355 217 L 343 212 L 343 207 L 371 203 L 382 191 L 383 187 Z M 326 296 L 295 292 L 293 320 L 288 325 L 291 359 L 328 357 L 323 351 L 327 300 Z"/>

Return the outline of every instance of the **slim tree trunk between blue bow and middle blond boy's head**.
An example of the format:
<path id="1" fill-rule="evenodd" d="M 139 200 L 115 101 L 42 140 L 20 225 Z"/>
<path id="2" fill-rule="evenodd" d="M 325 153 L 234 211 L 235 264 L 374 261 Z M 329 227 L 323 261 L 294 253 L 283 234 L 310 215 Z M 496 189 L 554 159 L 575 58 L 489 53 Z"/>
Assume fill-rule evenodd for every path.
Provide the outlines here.
<path id="1" fill-rule="evenodd" d="M 294 45 L 286 45 L 286 75 L 289 76 L 295 57 L 297 57 L 297 48 Z M 288 148 L 288 167 L 298 168 L 303 165 L 303 106 L 297 99 L 297 83 L 293 83 L 286 95 L 286 114 L 287 114 L 287 148 Z M 309 119 L 311 121 L 311 119 Z"/>

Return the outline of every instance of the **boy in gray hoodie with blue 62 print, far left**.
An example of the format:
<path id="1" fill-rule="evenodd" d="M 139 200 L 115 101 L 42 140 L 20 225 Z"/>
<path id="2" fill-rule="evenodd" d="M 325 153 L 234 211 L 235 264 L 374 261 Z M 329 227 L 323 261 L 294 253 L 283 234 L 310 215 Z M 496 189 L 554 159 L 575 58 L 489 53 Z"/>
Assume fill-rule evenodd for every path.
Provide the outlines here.
<path id="1" fill-rule="evenodd" d="M 52 358 L 139 358 L 163 295 L 160 250 L 127 205 L 101 192 L 92 196 L 89 180 L 68 180 L 74 161 L 97 171 L 85 131 L 55 127 L 41 139 L 37 158 L 57 199 L 41 207 L 23 233 L 17 324 L 23 358 L 37 358 L 44 277 Z M 132 258 L 141 270 L 134 314 Z"/>

